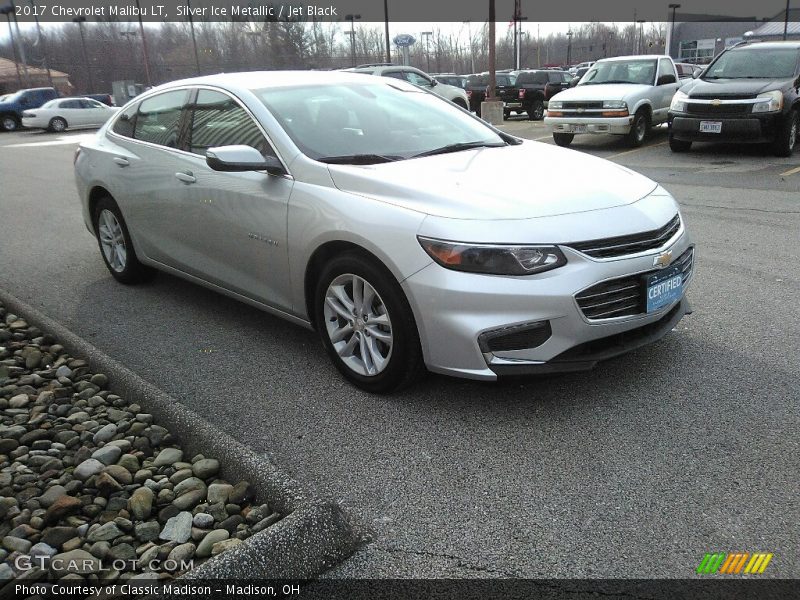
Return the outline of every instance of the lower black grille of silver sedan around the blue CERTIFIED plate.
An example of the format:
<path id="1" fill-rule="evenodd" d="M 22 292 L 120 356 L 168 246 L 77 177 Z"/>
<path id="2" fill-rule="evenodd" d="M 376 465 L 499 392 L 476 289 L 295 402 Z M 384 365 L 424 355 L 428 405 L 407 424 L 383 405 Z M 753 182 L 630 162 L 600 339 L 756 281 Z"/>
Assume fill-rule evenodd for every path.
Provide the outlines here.
<path id="1" fill-rule="evenodd" d="M 689 248 L 670 266 L 680 265 L 683 284 L 692 276 L 694 249 Z M 593 285 L 575 296 L 583 315 L 590 320 L 630 317 L 646 312 L 644 277 L 656 270 L 618 277 Z"/>

